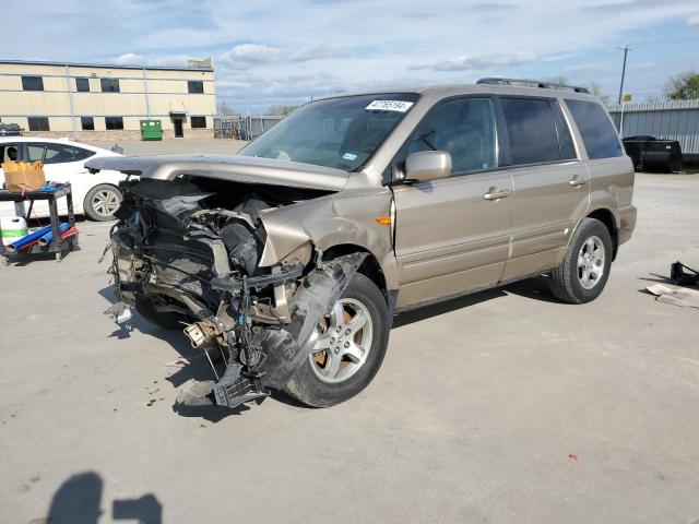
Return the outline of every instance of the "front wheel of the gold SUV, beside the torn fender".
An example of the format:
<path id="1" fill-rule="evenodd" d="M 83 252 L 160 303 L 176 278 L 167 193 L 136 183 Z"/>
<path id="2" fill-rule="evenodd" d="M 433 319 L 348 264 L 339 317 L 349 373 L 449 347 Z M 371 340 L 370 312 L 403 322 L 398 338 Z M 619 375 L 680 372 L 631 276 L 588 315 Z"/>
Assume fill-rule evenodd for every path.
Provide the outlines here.
<path id="1" fill-rule="evenodd" d="M 343 311 L 342 315 L 337 314 L 337 311 Z M 359 314 L 363 317 L 358 317 Z M 355 330 L 352 326 L 351 321 L 367 315 L 368 321 L 362 329 Z M 340 317 L 341 322 L 333 322 L 333 319 Z M 340 336 L 331 336 L 336 333 L 337 323 L 342 329 Z M 316 348 L 328 344 L 328 349 L 311 354 L 287 382 L 284 392 L 313 407 L 334 406 L 352 398 L 371 382 L 381 367 L 389 342 L 390 325 L 383 294 L 374 282 L 357 273 L 333 309 L 319 324 Z M 350 334 L 346 334 L 347 329 L 351 330 Z M 346 338 L 343 338 L 345 336 Z M 367 343 L 365 337 L 370 342 Z M 337 345 L 331 344 L 331 340 Z M 351 349 L 343 353 L 345 344 L 348 344 Z M 364 353 L 357 350 L 363 348 Z M 333 354 L 340 355 L 341 360 L 337 360 L 336 356 L 332 357 Z M 357 358 L 357 355 L 362 357 Z M 337 361 L 337 373 L 333 374 L 331 368 Z"/>

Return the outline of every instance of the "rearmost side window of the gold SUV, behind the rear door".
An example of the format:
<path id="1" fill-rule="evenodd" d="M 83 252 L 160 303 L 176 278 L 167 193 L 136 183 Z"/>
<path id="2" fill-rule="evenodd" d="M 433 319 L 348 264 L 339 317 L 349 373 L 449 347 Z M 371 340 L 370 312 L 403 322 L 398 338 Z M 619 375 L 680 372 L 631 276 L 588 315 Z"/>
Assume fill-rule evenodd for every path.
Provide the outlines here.
<path id="1" fill-rule="evenodd" d="M 584 100 L 566 100 L 578 126 L 582 142 L 588 150 L 588 156 L 595 158 L 612 158 L 621 156 L 621 143 L 616 134 L 612 121 L 600 104 Z"/>

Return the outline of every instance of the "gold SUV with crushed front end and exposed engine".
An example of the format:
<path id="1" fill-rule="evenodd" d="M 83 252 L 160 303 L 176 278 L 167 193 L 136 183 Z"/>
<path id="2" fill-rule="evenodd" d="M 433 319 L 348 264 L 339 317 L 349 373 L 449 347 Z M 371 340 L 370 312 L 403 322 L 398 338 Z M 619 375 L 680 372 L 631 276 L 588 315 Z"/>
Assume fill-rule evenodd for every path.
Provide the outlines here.
<path id="1" fill-rule="evenodd" d="M 541 274 L 593 300 L 636 223 L 600 102 L 526 81 L 337 95 L 236 156 L 87 165 L 139 177 L 111 231 L 114 311 L 183 329 L 229 407 L 356 395 L 410 308 Z"/>

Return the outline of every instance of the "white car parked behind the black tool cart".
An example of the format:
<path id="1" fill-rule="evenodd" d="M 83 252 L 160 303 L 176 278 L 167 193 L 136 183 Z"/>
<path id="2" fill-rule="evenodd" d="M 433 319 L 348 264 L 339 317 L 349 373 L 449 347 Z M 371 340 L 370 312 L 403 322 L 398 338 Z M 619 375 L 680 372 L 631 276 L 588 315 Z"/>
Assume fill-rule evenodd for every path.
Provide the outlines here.
<path id="1" fill-rule="evenodd" d="M 0 162 L 26 160 L 44 162 L 47 181 L 70 182 L 73 196 L 73 210 L 79 215 L 86 215 L 93 221 L 111 221 L 114 212 L 121 203 L 121 192 L 117 188 L 126 175 L 119 171 L 105 170 L 91 175 L 85 168 L 88 158 L 120 156 L 108 150 L 69 140 L 42 139 L 29 136 L 0 138 Z M 4 184 L 4 172 L 0 168 L 0 186 Z M 58 212 L 68 213 L 66 199 L 59 199 Z M 14 215 L 11 202 L 0 203 L 0 216 Z M 36 201 L 32 216 L 48 216 L 46 201 Z"/>

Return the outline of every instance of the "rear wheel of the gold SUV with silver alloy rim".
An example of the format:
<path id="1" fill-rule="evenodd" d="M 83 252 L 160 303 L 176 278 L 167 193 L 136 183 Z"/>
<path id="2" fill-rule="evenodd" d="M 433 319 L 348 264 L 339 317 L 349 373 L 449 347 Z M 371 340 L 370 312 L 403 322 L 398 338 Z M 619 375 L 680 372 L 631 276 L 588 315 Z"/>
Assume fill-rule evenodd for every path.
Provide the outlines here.
<path id="1" fill-rule="evenodd" d="M 583 218 L 570 239 L 562 263 L 550 274 L 552 293 L 570 303 L 594 300 L 607 283 L 613 254 L 607 227 L 595 218 Z"/>

